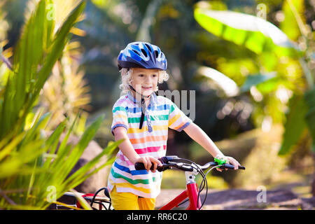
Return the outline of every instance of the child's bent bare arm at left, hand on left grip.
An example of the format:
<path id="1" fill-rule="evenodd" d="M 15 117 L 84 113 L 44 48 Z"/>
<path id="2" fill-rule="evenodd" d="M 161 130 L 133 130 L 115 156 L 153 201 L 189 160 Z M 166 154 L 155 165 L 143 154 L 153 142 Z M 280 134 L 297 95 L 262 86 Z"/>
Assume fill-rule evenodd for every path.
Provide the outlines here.
<path id="1" fill-rule="evenodd" d="M 118 141 L 119 139 L 125 139 L 125 141 L 123 141 L 118 147 L 133 164 L 136 162 L 143 162 L 147 171 L 150 170 L 152 163 L 154 164 L 155 169 L 158 167 L 158 165 L 162 166 L 160 160 L 157 160 L 151 156 L 140 157 L 138 153 L 134 151 L 134 147 L 127 136 L 127 130 L 125 127 L 116 127 L 113 130 L 113 134 L 115 135 L 115 141 Z M 153 172 L 155 172 L 155 169 L 153 169 Z"/>

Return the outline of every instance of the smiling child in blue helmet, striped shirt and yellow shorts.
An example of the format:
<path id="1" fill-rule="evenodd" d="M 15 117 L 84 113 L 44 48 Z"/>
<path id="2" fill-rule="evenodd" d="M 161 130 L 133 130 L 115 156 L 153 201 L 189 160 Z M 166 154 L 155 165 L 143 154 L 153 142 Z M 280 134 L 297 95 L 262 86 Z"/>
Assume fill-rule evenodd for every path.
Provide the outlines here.
<path id="1" fill-rule="evenodd" d="M 166 154 L 168 128 L 184 130 L 214 157 L 224 155 L 176 104 L 155 94 L 158 83 L 168 78 L 167 59 L 158 46 L 129 43 L 118 55 L 118 69 L 124 95 L 113 106 L 111 130 L 116 141 L 125 141 L 109 174 L 111 202 L 116 210 L 150 210 L 160 193 L 162 172 L 156 169 L 162 165 L 158 158 Z M 237 160 L 226 158 L 238 169 Z M 136 162 L 143 162 L 146 170 L 135 170 Z"/>

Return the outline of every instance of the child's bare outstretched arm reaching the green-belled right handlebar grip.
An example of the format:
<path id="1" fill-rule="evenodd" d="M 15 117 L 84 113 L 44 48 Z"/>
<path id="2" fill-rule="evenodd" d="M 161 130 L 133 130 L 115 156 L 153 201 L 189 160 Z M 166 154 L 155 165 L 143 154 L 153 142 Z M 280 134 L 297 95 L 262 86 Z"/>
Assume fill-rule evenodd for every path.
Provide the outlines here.
<path id="1" fill-rule="evenodd" d="M 204 131 L 195 123 L 190 123 L 190 125 L 188 125 L 184 129 L 184 131 L 188 134 L 190 138 L 195 140 L 197 144 L 200 144 L 200 146 L 206 149 L 214 158 L 217 155 L 223 155 L 223 153 L 218 149 L 216 144 L 214 144 L 214 141 L 212 141 L 208 137 L 208 135 L 204 133 Z M 228 158 L 228 161 L 230 162 L 230 164 L 235 166 L 235 169 L 238 169 L 240 164 L 239 162 L 237 162 L 237 160 L 235 160 L 235 158 L 232 158 L 230 156 L 227 156 L 226 158 Z M 218 170 L 221 171 L 221 169 L 218 169 Z"/>

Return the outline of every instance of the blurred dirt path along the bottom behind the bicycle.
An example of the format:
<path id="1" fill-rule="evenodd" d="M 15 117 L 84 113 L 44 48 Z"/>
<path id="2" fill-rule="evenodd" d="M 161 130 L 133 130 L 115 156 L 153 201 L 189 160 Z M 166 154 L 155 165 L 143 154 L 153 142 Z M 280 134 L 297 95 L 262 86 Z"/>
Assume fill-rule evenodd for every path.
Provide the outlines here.
<path id="1" fill-rule="evenodd" d="M 183 190 L 162 190 L 157 198 L 156 207 L 162 207 Z M 300 198 L 291 190 L 267 190 L 263 197 L 256 190 L 210 190 L 206 202 L 205 210 L 224 209 L 315 209 L 315 197 Z M 205 190 L 202 193 L 204 200 Z M 258 202 L 260 201 L 260 202 Z M 187 203 L 182 204 L 179 209 L 187 207 Z"/>

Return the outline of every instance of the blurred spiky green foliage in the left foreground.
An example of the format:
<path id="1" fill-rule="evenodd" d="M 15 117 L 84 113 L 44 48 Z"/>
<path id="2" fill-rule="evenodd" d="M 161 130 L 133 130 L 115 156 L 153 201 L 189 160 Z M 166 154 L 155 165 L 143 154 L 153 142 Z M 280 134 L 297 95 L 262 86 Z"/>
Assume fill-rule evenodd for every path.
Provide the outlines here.
<path id="1" fill-rule="evenodd" d="M 68 144 L 79 114 L 69 128 L 64 119 L 50 132 L 47 124 L 51 113 L 43 114 L 43 108 L 34 109 L 52 67 L 62 57 L 71 38 L 71 29 L 85 8 L 84 2 L 78 3 L 64 15 L 64 21 L 55 29 L 55 20 L 48 17 L 51 10 L 48 6 L 51 5 L 50 0 L 34 4 L 13 50 L 12 64 L 7 63 L 2 48 L 0 50 L 0 66 L 6 66 L 0 73 L 1 209 L 47 208 L 66 191 L 109 165 L 111 160 L 95 168 L 99 160 L 111 154 L 121 142 L 110 144 L 71 174 L 104 116 L 95 119 L 76 144 Z M 62 132 L 66 134 L 60 140 Z"/>

